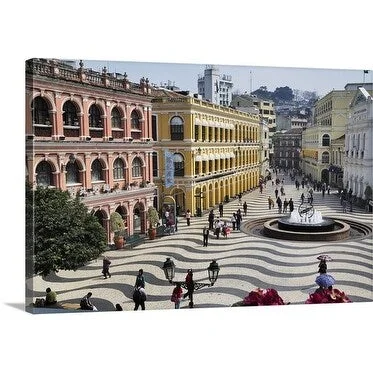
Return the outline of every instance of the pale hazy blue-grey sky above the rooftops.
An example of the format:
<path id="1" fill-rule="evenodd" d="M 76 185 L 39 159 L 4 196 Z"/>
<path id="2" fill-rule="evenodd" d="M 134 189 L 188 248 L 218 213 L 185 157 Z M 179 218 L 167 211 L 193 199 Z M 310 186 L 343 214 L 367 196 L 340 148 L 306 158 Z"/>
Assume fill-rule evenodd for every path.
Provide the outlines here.
<path id="1" fill-rule="evenodd" d="M 208 63 L 207 63 L 208 64 Z M 169 63 L 169 62 L 117 62 L 84 60 L 84 66 L 101 71 L 104 66 L 109 72 L 124 73 L 132 82 L 141 77 L 149 78 L 152 84 L 161 85 L 168 81 L 180 89 L 196 93 L 198 75 L 203 75 L 207 64 Z M 277 87 L 289 86 L 302 91 L 316 91 L 324 96 L 333 89 L 344 89 L 347 83 L 372 82 L 373 72 L 364 74 L 361 70 L 286 68 L 265 66 L 215 65 L 219 73 L 231 75 L 233 92 L 244 93 L 267 86 L 269 91 Z M 250 73 L 251 72 L 251 73 Z M 251 79 L 250 79 L 251 77 Z"/>

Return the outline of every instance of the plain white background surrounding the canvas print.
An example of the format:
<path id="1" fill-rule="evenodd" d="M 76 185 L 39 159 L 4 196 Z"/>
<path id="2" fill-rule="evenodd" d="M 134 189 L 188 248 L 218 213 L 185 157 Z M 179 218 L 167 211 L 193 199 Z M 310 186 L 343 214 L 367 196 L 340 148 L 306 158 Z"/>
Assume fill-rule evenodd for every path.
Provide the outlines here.
<path id="1" fill-rule="evenodd" d="M 2 368 L 371 369 L 372 303 L 69 315 L 23 311 L 24 61 L 75 57 L 373 69 L 372 1 L 250 3 L 65 0 L 2 5 Z"/>

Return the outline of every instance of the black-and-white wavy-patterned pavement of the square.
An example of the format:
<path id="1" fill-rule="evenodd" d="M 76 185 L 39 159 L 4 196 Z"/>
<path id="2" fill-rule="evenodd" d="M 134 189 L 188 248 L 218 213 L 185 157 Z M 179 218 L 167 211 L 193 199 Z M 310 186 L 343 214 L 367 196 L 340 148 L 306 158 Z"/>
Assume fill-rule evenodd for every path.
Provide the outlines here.
<path id="1" fill-rule="evenodd" d="M 297 208 L 305 189 L 300 187 L 297 191 L 287 177 L 284 188 L 286 197 L 292 197 Z M 269 195 L 274 198 L 271 182 L 262 194 L 255 190 L 243 196 L 242 202 L 248 204 L 248 215 L 243 224 L 250 219 L 277 215 L 277 209 L 268 210 Z M 315 192 L 314 206 L 323 216 L 345 217 L 373 226 L 372 214 L 363 210 L 342 213 L 334 190 L 324 197 L 321 192 Z M 225 204 L 224 219 L 229 219 L 238 208 L 237 200 Z M 218 215 L 218 209 L 214 211 Z M 202 228 L 205 225 L 208 225 L 207 215 L 192 218 L 190 227 L 181 218 L 174 235 L 147 240 L 133 249 L 107 252 L 112 262 L 111 278 L 103 278 L 99 258 L 75 272 L 60 271 L 46 279 L 34 277 L 27 281 L 27 286 L 34 288 L 34 298 L 43 297 L 45 289 L 51 287 L 57 292 L 59 301 L 77 304 L 91 291 L 92 302 L 100 311 L 112 311 L 116 303 L 124 310 L 133 310 L 132 289 L 138 270 L 143 268 L 148 294 L 146 309 L 172 309 L 173 287 L 162 271 L 166 257 L 171 257 L 176 265 L 175 281 L 183 281 L 187 269 L 193 268 L 194 280 L 198 282 L 208 282 L 207 267 L 212 259 L 216 259 L 220 266 L 218 281 L 213 287 L 196 291 L 196 307 L 229 307 L 257 287 L 273 287 L 285 302 L 303 304 L 317 287 L 314 282 L 318 275 L 316 257 L 329 254 L 333 261 L 328 263 L 328 273 L 336 279 L 335 287 L 344 291 L 353 302 L 373 300 L 372 236 L 343 242 L 291 242 L 234 231 L 226 239 L 220 237 L 217 240 L 210 236 L 208 247 L 203 247 Z M 183 308 L 188 308 L 187 300 L 182 301 Z"/>

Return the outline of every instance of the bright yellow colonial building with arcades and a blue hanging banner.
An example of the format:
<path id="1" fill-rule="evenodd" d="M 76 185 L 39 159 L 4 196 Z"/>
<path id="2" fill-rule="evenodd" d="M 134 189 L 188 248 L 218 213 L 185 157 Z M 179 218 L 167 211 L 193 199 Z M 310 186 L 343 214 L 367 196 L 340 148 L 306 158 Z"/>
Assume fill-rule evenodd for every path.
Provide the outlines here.
<path id="1" fill-rule="evenodd" d="M 159 207 L 193 215 L 258 186 L 259 116 L 167 90 L 153 92 L 153 180 Z"/>

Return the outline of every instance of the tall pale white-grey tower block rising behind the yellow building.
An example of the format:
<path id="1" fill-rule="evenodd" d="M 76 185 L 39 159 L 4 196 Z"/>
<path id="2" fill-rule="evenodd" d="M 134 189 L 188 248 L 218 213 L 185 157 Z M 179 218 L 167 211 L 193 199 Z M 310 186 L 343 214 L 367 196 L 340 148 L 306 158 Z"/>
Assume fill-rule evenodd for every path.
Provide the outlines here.
<path id="1" fill-rule="evenodd" d="M 214 65 L 206 66 L 204 75 L 198 76 L 198 94 L 213 104 L 229 106 L 232 101 L 232 89 L 232 77 L 220 74 Z"/>

